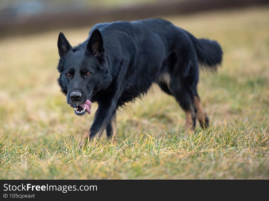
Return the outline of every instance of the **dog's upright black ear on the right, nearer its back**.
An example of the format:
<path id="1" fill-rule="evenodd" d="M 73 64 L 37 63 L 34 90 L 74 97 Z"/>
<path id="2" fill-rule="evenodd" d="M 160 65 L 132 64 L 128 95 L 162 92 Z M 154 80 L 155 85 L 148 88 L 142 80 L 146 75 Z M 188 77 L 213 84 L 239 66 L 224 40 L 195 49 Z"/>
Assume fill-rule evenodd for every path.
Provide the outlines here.
<path id="1" fill-rule="evenodd" d="M 104 53 L 104 41 L 101 32 L 94 29 L 87 44 L 87 53 L 99 57 Z"/>

